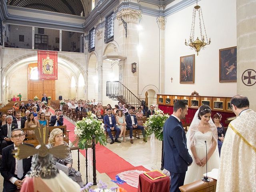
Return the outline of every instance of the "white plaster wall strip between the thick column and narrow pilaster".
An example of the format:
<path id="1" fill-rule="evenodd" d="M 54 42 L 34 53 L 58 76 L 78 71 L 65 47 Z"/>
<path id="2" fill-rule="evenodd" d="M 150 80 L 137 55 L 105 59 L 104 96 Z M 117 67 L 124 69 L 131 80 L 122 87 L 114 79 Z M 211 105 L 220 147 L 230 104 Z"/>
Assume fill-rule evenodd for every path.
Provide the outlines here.
<path id="1" fill-rule="evenodd" d="M 156 17 L 142 15 L 138 42 L 138 95 L 152 85 L 159 88 L 159 28 Z M 145 95 L 142 95 L 142 97 Z"/>

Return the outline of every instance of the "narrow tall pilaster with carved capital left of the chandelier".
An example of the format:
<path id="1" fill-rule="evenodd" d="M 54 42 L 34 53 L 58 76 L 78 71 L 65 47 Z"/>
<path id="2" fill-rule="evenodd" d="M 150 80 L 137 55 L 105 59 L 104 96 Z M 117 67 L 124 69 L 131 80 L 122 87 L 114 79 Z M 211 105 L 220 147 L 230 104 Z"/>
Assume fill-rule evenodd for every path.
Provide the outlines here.
<path id="1" fill-rule="evenodd" d="M 165 60 L 164 60 L 164 52 L 165 52 L 165 45 L 164 45 L 164 34 L 165 34 L 165 23 L 166 18 L 163 16 L 159 16 L 156 19 L 156 22 L 159 27 L 159 93 L 164 94 L 164 81 L 165 81 L 165 72 L 164 72 L 164 66 L 165 66 Z"/>

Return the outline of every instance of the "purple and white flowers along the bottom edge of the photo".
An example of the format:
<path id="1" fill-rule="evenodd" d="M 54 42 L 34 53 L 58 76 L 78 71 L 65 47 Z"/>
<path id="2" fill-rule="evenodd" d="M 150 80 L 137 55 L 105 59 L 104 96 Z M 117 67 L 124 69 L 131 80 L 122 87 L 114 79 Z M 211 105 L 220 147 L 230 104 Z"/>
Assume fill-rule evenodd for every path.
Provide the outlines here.
<path id="1" fill-rule="evenodd" d="M 104 182 L 102 182 L 102 180 L 99 180 L 99 183 L 97 185 L 98 188 L 92 189 L 92 185 L 93 183 L 89 182 L 88 184 L 86 184 L 86 186 L 84 186 L 81 189 L 81 192 L 127 192 L 121 187 L 112 187 L 110 189 L 107 189 L 107 185 Z"/>

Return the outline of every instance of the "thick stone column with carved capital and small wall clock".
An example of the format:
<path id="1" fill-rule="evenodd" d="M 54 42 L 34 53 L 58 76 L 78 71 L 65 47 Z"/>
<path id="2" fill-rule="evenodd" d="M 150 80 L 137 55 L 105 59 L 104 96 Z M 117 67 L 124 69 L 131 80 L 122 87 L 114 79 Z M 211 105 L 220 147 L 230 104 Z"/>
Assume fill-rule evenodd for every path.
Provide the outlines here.
<path id="1" fill-rule="evenodd" d="M 141 19 L 141 11 L 133 9 L 122 9 L 117 13 L 119 26 L 119 46 L 126 60 L 120 61 L 122 70 L 119 74 L 122 76 L 122 83 L 136 96 L 138 96 L 138 28 L 137 25 Z M 127 37 L 124 29 L 123 20 L 127 24 Z M 132 73 L 132 63 L 137 63 L 137 71 Z"/>

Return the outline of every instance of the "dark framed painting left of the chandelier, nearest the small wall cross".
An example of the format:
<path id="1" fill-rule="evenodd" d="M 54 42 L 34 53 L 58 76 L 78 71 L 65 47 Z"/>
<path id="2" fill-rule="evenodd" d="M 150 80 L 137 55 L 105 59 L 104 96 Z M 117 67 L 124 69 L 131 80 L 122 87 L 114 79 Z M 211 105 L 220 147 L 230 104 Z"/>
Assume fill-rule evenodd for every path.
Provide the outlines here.
<path id="1" fill-rule="evenodd" d="M 180 83 L 194 83 L 195 55 L 180 57 Z"/>

